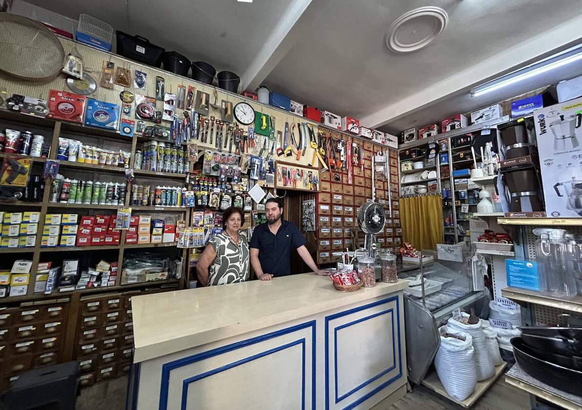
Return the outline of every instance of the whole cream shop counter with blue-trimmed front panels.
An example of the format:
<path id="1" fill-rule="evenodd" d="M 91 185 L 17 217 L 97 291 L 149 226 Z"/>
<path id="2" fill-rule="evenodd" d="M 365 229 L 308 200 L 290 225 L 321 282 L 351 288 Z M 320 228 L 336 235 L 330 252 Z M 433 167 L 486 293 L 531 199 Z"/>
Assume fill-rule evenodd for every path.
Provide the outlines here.
<path id="1" fill-rule="evenodd" d="M 384 407 L 406 392 L 405 287 L 306 273 L 133 297 L 127 408 Z"/>

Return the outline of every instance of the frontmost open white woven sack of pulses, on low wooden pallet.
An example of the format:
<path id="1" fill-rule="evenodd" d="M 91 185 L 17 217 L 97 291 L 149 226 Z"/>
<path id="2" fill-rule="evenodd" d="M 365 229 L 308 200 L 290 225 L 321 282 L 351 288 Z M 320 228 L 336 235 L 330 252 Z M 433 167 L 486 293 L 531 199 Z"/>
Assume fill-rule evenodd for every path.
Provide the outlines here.
<path id="1" fill-rule="evenodd" d="M 441 344 L 435 356 L 435 368 L 446 393 L 457 400 L 465 400 L 475 390 L 477 373 L 471 335 L 447 326 L 439 329 Z M 446 336 L 454 337 L 446 337 Z"/>

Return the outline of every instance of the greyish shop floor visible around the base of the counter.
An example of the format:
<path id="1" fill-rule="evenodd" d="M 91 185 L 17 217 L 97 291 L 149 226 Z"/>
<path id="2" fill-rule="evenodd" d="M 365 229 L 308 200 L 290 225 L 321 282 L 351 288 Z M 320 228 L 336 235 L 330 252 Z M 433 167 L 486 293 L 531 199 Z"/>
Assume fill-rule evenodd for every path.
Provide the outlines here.
<path id="1" fill-rule="evenodd" d="M 84 388 L 77 398 L 77 410 L 124 410 L 127 377 Z M 481 397 L 472 410 L 528 410 L 527 394 L 503 381 L 503 376 Z M 435 394 L 424 386 L 417 386 L 396 404 L 386 410 L 450 410 L 462 407 Z"/>

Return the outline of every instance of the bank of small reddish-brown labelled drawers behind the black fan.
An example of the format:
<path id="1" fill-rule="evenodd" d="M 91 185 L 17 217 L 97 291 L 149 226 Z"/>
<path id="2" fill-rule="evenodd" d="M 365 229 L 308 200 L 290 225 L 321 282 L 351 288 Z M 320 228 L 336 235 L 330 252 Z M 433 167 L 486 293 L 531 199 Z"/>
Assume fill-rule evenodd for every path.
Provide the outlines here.
<path id="1" fill-rule="evenodd" d="M 332 255 L 335 251 L 352 250 L 350 230 L 359 231 L 360 243 L 363 246 L 364 234 L 357 222 L 357 210 L 372 198 L 372 183 L 375 184 L 376 202 L 381 204 L 386 212 L 386 226 L 377 235 L 377 242 L 382 248 L 398 249 L 402 244 L 402 228 L 400 227 L 400 212 L 398 203 L 398 153 L 389 150 L 390 183 L 382 177 L 372 181 L 372 155 L 380 147 L 370 142 L 363 144 L 364 166 L 353 167 L 352 184 L 348 183 L 347 172 L 335 173 L 339 181 L 329 172 L 321 173 L 320 192 L 316 196 L 317 226 L 317 263 L 334 263 L 341 260 Z M 389 215 L 389 190 L 392 197 L 392 218 Z"/>

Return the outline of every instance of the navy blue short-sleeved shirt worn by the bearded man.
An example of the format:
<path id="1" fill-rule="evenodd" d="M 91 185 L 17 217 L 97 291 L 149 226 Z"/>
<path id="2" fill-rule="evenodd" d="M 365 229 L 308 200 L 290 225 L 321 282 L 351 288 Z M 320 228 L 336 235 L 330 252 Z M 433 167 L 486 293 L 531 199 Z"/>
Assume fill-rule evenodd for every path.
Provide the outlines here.
<path id="1" fill-rule="evenodd" d="M 262 272 L 278 277 L 291 274 L 291 246 L 297 249 L 306 243 L 307 241 L 292 222 L 282 220 L 276 235 L 269 230 L 267 222 L 255 227 L 250 247 L 258 249 L 258 260 L 261 262 Z"/>

